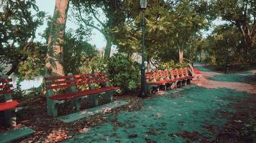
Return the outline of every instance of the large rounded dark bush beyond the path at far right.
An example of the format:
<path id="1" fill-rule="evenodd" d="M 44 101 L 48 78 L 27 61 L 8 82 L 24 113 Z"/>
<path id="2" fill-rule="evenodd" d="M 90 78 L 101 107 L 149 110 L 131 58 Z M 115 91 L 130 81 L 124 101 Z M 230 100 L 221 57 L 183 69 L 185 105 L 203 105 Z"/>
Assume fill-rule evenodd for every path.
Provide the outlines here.
<path id="1" fill-rule="evenodd" d="M 244 49 L 240 31 L 229 24 L 217 26 L 212 36 L 205 42 L 206 62 L 224 66 L 225 64 L 249 64 L 250 56 Z"/>

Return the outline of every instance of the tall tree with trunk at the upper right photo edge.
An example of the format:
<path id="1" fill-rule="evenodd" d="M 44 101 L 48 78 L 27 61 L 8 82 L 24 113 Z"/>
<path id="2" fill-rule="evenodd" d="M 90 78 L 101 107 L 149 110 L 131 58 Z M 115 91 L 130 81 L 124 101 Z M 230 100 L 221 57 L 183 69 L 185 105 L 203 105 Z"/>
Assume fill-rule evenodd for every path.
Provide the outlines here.
<path id="1" fill-rule="evenodd" d="M 255 0 L 219 0 L 215 4 L 214 14 L 239 29 L 242 34 L 243 49 L 246 58 L 252 62 L 253 50 L 256 51 L 256 1 Z M 244 57 L 245 58 L 245 57 Z"/>

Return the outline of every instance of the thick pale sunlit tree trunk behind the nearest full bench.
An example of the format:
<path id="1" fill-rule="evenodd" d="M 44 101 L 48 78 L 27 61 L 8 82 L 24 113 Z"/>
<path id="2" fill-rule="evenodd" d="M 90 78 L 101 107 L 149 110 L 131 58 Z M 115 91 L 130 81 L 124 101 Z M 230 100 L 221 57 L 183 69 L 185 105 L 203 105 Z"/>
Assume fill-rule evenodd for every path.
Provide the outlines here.
<path id="1" fill-rule="evenodd" d="M 63 42 L 69 0 L 55 0 L 52 27 L 48 39 L 46 55 L 46 74 L 65 75 L 63 68 Z"/>

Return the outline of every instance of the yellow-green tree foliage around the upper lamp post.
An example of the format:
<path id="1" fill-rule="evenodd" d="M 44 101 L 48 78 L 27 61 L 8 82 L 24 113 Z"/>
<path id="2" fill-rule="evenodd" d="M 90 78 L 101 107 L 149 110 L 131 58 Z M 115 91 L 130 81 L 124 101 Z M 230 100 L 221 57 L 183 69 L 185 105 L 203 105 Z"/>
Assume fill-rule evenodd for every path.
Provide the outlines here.
<path id="1" fill-rule="evenodd" d="M 126 1 L 129 19 L 112 29 L 119 52 L 141 53 L 142 11 L 138 1 Z M 178 49 L 186 50 L 193 37 L 207 28 L 207 3 L 196 1 L 150 1 L 145 11 L 147 59 L 178 61 Z M 190 58 L 187 52 L 186 58 Z"/>

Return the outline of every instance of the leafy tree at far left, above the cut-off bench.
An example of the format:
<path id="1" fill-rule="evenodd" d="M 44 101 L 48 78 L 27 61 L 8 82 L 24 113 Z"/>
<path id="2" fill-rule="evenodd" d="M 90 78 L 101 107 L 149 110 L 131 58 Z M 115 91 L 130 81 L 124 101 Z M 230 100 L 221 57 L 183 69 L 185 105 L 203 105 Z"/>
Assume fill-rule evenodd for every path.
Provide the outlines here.
<path id="1" fill-rule="evenodd" d="M 40 44 L 36 44 L 34 39 L 45 13 L 39 11 L 35 0 L 5 0 L 3 8 L 4 11 L 0 12 L 0 66 L 3 69 L 11 67 L 9 71 L 4 71 L 8 76 L 14 72 L 20 74 L 24 69 L 35 75 L 37 70 L 27 69 L 26 66 L 32 66 L 32 62 L 28 61 L 42 54 L 42 49 L 38 48 Z"/>

